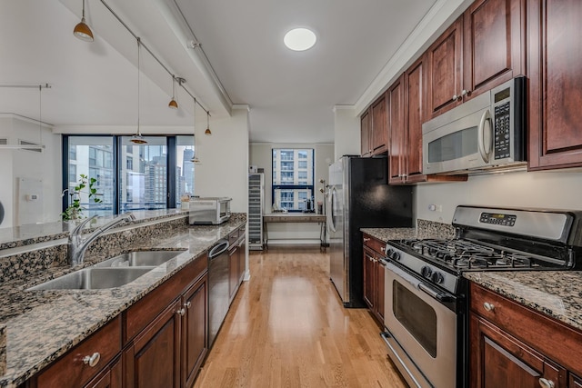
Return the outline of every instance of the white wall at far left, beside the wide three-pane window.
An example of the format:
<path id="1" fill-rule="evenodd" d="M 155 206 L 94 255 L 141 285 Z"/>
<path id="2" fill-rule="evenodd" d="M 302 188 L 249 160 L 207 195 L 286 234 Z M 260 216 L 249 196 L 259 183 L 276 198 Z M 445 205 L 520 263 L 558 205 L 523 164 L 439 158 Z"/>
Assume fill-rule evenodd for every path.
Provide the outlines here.
<path id="1" fill-rule="evenodd" d="M 40 207 L 43 211 L 34 214 L 33 221 L 58 221 L 61 213 L 61 137 L 53 134 L 50 128 L 43 127 L 41 130 L 35 122 L 17 117 L 0 119 L 0 137 L 7 137 L 8 144 L 18 144 L 18 140 L 25 140 L 45 145 L 42 153 L 0 150 L 0 201 L 5 207 L 5 221 L 0 227 L 18 224 L 18 178 L 42 180 Z"/>

